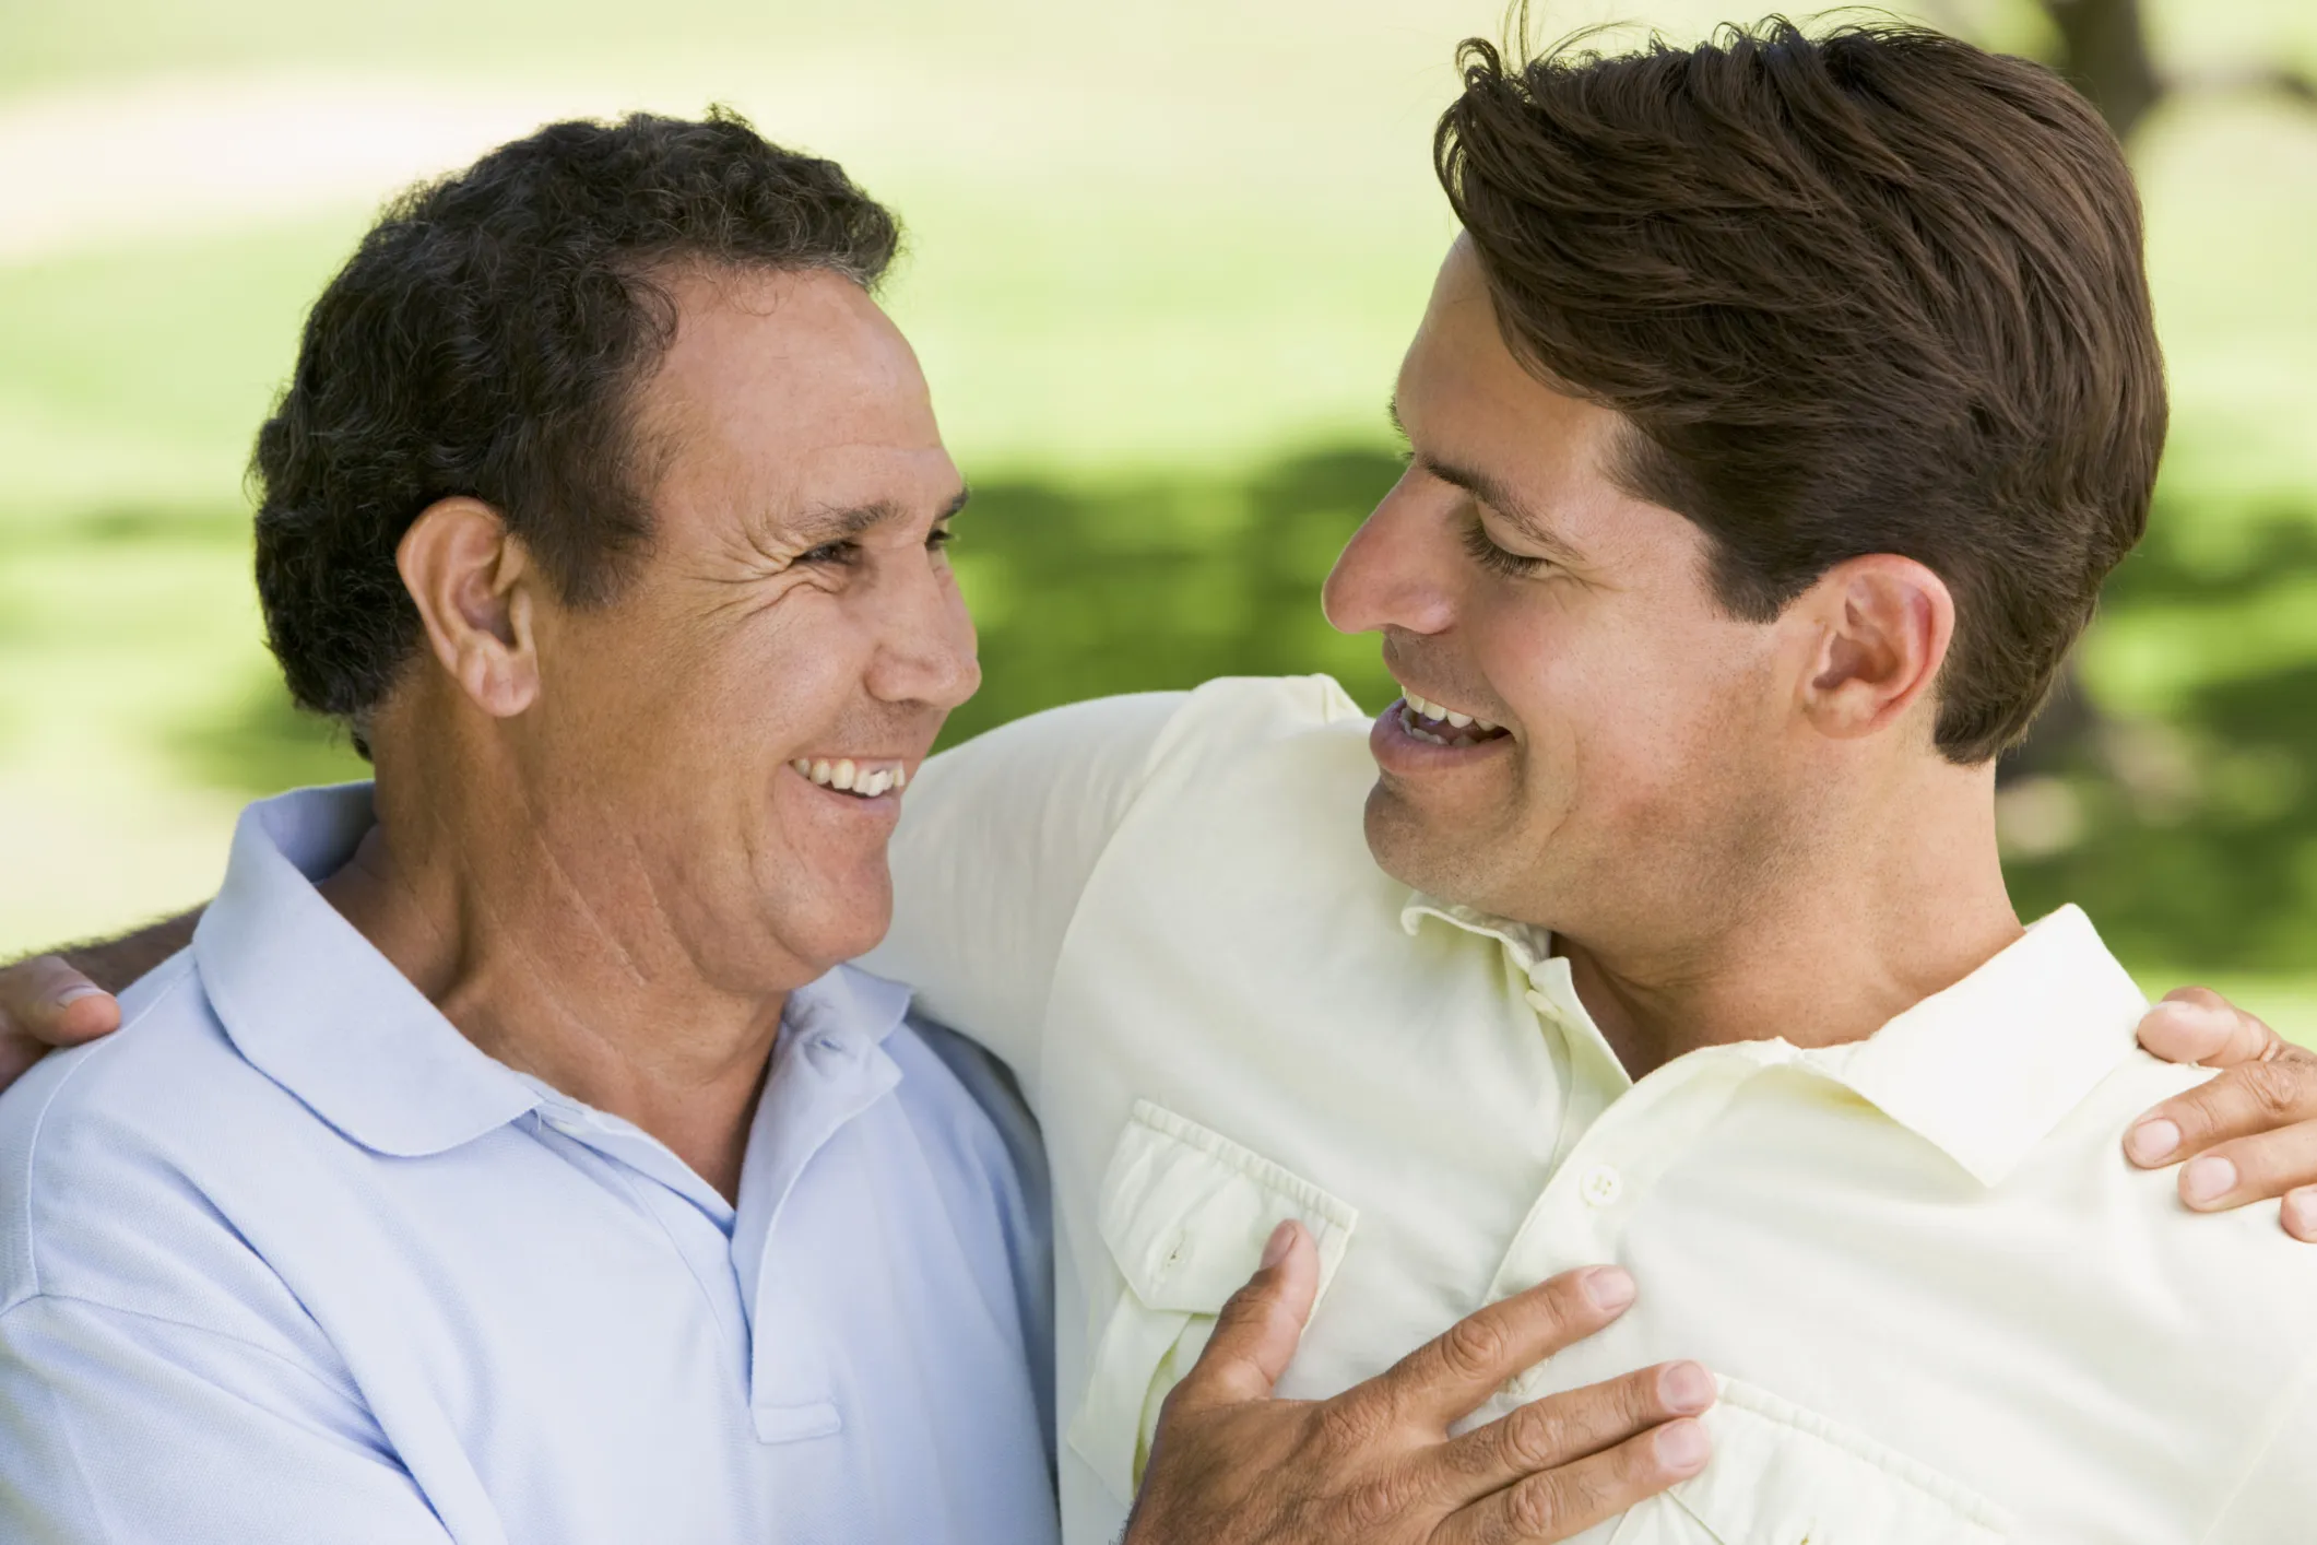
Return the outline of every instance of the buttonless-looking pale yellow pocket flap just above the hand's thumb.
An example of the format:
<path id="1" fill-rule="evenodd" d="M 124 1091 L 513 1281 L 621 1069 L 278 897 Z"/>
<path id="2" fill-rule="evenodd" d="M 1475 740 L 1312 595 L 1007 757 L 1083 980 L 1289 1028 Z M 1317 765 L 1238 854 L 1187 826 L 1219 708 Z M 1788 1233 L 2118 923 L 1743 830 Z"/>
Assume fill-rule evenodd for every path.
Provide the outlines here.
<path id="1" fill-rule="evenodd" d="M 1360 1214 L 1253 1149 L 1135 1100 L 1103 1177 L 1101 1235 L 1149 1309 L 1214 1313 L 1288 1218 L 1311 1230 L 1325 1293 Z"/>

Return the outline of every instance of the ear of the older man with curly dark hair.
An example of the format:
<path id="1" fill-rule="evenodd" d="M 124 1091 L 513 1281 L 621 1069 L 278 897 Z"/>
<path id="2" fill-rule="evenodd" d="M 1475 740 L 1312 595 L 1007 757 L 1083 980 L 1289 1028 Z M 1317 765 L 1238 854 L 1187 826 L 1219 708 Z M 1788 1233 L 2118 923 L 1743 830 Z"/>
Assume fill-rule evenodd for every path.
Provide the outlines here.
<path id="1" fill-rule="evenodd" d="M 494 718 L 528 709 L 540 693 L 535 570 L 498 510 L 480 498 L 438 498 L 410 521 L 394 565 L 436 660 L 475 706 Z"/>

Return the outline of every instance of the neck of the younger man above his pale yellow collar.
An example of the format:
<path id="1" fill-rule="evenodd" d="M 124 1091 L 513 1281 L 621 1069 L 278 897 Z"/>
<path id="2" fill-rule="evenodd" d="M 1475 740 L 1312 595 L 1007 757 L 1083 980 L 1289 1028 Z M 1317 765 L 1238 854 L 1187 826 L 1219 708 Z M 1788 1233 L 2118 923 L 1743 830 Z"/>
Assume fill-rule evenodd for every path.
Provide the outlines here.
<path id="1" fill-rule="evenodd" d="M 1916 764 L 1847 820 L 1814 811 L 1819 836 L 1687 938 L 1562 938 L 1627 1072 L 1740 1040 L 1863 1040 L 2018 940 L 1993 785 L 1990 767 Z"/>

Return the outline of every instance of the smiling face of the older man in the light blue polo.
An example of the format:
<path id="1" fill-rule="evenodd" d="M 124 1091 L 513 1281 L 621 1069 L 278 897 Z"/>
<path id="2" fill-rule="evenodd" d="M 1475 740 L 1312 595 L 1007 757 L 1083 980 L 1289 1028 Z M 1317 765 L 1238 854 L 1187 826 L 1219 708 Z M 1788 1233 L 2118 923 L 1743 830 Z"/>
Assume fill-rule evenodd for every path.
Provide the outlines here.
<path id="1" fill-rule="evenodd" d="M 531 776 L 579 894 L 616 899 L 614 938 L 679 940 L 737 991 L 795 987 L 885 933 L 901 785 L 980 683 L 943 554 L 964 484 L 857 285 L 672 292 L 637 415 L 651 549 L 607 607 L 540 618 Z"/>

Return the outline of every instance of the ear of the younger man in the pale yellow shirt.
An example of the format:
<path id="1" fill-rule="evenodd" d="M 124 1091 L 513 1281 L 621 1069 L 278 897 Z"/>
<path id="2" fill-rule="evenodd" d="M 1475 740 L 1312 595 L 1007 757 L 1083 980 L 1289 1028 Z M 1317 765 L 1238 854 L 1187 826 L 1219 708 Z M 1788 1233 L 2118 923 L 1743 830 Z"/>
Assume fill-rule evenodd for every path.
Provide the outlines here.
<path id="1" fill-rule="evenodd" d="M 1925 702 L 1956 642 L 1946 581 L 1895 554 L 1837 563 L 1793 616 L 1817 635 L 1803 711 L 1835 739 L 1877 734 Z"/>

